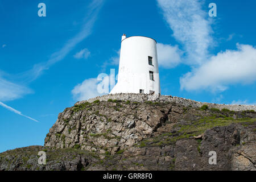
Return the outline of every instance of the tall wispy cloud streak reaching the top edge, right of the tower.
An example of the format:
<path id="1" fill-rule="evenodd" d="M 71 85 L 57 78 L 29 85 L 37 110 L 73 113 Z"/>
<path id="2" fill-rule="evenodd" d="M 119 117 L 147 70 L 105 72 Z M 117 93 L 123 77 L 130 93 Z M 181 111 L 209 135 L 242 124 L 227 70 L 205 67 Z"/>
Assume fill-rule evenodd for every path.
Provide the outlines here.
<path id="1" fill-rule="evenodd" d="M 187 55 L 185 63 L 202 64 L 213 43 L 207 11 L 201 9 L 201 3 L 197 0 L 157 1 L 174 38 L 184 46 Z"/>

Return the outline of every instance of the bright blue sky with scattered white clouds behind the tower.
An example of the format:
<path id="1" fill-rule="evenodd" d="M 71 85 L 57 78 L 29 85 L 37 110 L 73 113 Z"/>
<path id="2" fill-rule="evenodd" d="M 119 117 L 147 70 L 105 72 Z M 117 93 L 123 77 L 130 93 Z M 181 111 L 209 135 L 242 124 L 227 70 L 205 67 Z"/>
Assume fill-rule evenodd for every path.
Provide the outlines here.
<path id="1" fill-rule="evenodd" d="M 38 4 L 46 4 L 46 17 Z M 217 16 L 210 17 L 209 3 Z M 57 115 L 118 72 L 121 36 L 158 42 L 162 94 L 255 104 L 256 2 L 0 0 L 0 152 L 43 145 Z"/>

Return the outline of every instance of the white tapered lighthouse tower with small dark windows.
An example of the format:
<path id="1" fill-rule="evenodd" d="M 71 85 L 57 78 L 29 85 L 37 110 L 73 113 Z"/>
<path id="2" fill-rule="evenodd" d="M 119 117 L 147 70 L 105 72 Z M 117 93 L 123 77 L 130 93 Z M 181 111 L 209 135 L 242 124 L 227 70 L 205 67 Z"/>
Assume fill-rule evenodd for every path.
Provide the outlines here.
<path id="1" fill-rule="evenodd" d="M 123 34 L 117 84 L 114 93 L 160 94 L 156 41 Z"/>

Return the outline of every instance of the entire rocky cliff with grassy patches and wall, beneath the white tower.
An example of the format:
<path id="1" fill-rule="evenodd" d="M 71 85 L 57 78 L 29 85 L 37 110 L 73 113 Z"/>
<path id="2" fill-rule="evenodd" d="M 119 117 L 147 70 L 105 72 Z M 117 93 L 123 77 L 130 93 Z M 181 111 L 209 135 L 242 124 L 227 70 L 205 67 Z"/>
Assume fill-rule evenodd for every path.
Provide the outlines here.
<path id="1" fill-rule="evenodd" d="M 254 108 L 171 96 L 97 97 L 60 113 L 44 146 L 0 154 L 0 170 L 255 170 Z M 46 165 L 38 164 L 41 150 Z M 216 164 L 209 164 L 210 151 Z"/>

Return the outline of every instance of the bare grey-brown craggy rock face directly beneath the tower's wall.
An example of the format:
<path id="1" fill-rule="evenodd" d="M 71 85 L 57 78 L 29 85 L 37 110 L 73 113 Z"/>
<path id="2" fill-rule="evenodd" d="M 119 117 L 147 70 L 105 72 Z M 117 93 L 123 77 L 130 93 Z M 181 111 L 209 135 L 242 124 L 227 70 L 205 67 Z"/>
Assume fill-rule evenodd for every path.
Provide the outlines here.
<path id="1" fill-rule="evenodd" d="M 59 114 L 45 139 L 45 147 L 82 150 L 121 150 L 151 137 L 164 123 L 171 105 L 127 104 L 126 102 L 86 103 L 67 108 Z M 115 147 L 115 148 L 114 148 Z"/>

